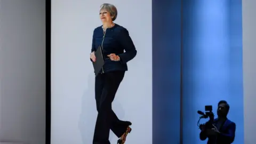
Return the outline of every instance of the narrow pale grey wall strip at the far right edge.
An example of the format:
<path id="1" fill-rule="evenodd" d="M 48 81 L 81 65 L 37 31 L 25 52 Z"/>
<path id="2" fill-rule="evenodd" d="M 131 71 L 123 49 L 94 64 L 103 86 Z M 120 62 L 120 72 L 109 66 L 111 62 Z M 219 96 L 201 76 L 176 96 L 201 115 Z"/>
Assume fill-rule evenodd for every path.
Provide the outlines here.
<path id="1" fill-rule="evenodd" d="M 244 143 L 255 143 L 256 1 L 243 0 Z"/>

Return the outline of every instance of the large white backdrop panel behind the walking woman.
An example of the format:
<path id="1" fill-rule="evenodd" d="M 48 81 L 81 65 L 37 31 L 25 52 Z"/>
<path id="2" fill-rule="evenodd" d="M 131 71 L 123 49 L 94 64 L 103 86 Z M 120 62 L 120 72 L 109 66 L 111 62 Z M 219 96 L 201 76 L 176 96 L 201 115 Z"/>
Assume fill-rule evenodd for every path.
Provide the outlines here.
<path id="1" fill-rule="evenodd" d="M 89 60 L 99 7 L 117 7 L 118 25 L 129 30 L 137 56 L 113 102 L 120 119 L 131 121 L 127 143 L 152 143 L 152 21 L 148 0 L 52 0 L 51 144 L 91 144 L 97 117 L 94 74 Z M 110 142 L 117 138 L 111 132 Z"/>

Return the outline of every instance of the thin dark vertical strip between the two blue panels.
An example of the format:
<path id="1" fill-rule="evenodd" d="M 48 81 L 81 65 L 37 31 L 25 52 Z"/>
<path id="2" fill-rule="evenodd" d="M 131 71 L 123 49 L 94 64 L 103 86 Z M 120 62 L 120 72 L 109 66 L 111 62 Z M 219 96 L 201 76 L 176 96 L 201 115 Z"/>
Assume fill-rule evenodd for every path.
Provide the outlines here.
<path id="1" fill-rule="evenodd" d="M 183 0 L 180 8 L 180 143 L 183 144 Z"/>

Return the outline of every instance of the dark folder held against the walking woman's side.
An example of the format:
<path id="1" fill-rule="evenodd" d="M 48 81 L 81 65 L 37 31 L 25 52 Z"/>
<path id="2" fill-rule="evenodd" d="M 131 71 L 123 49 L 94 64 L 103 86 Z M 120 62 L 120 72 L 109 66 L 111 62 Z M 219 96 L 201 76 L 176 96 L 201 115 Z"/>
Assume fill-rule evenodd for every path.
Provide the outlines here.
<path id="1" fill-rule="evenodd" d="M 94 68 L 95 75 L 98 75 L 104 65 L 104 59 L 103 59 L 103 53 L 102 53 L 101 46 L 98 47 L 97 51 L 95 51 L 94 54 L 96 57 L 96 61 L 92 62 L 92 65 Z"/>

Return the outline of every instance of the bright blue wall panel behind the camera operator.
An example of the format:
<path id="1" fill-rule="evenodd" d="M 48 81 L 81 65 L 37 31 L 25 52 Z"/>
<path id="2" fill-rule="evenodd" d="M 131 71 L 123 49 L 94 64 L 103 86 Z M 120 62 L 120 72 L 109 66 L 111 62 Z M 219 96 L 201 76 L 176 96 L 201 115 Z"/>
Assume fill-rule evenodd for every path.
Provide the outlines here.
<path id="1" fill-rule="evenodd" d="M 183 144 L 199 140 L 197 110 L 230 104 L 243 143 L 242 2 L 183 0 Z"/>

